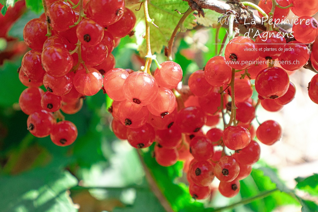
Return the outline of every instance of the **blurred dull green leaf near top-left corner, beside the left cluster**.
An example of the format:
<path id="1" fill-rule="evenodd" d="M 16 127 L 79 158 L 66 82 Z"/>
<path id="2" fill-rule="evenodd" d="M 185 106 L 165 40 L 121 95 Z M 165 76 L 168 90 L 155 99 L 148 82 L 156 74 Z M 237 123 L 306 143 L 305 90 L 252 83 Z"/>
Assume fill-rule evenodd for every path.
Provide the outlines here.
<path id="1" fill-rule="evenodd" d="M 11 27 L 8 32 L 9 36 L 19 38 L 19 40 L 23 40 L 23 29 L 26 23 L 33 18 L 38 18 L 39 15 L 31 10 L 27 10 Z"/>

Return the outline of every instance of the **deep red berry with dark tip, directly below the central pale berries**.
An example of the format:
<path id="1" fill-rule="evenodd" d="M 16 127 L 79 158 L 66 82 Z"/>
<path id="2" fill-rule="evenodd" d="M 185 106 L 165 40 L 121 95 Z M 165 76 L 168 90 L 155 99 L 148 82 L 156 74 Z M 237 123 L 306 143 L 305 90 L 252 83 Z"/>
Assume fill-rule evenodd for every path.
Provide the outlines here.
<path id="1" fill-rule="evenodd" d="M 137 149 L 150 147 L 155 140 L 155 130 L 150 124 L 127 129 L 128 143 Z"/>

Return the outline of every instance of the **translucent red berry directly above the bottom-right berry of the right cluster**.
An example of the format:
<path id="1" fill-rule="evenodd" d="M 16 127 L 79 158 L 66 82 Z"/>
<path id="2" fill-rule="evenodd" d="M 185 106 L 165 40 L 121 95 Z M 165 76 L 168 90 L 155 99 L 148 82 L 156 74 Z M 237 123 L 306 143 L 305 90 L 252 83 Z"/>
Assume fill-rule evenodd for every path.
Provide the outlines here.
<path id="1" fill-rule="evenodd" d="M 239 175 L 239 164 L 234 157 L 225 155 L 215 165 L 214 174 L 221 182 L 231 182 Z"/>

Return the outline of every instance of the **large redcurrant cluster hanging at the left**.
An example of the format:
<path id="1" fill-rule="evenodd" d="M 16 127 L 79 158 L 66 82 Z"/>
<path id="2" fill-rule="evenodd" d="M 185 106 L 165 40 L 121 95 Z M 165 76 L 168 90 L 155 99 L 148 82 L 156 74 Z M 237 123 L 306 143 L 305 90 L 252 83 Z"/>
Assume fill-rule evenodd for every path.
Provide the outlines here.
<path id="1" fill-rule="evenodd" d="M 74 114 L 85 96 L 102 88 L 103 75 L 115 66 L 111 52 L 134 28 L 136 17 L 125 8 L 124 0 L 90 0 L 76 7 L 79 12 L 65 1 L 46 4 L 46 13 L 24 27 L 24 42 L 31 50 L 18 70 L 20 81 L 28 87 L 19 105 L 29 115 L 27 128 L 34 136 L 50 135 L 56 145 L 67 146 L 78 132 L 60 109 Z"/>

